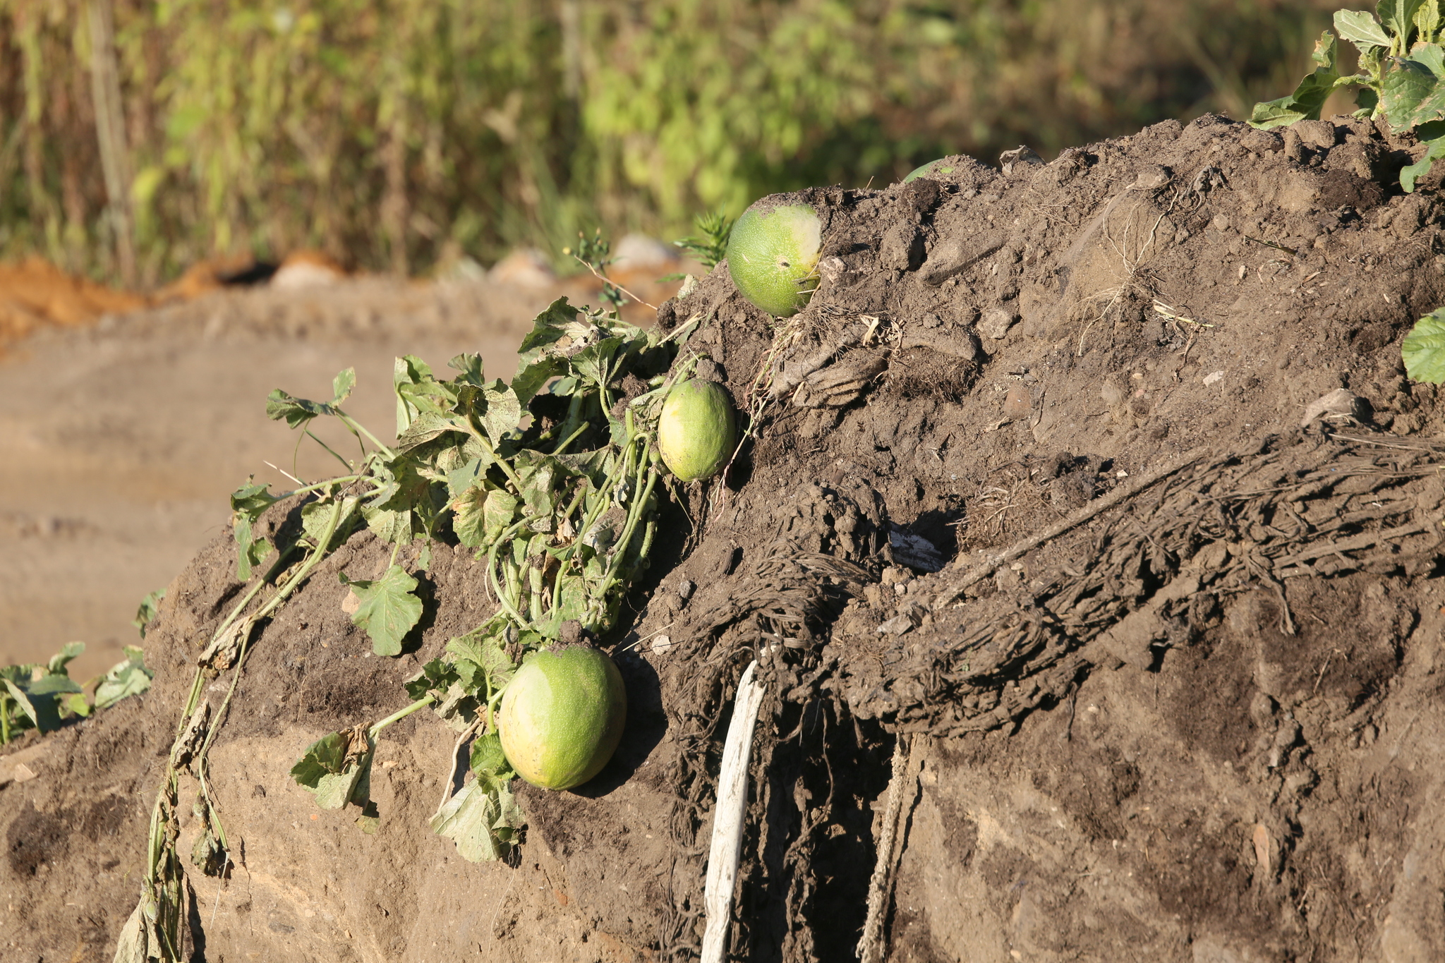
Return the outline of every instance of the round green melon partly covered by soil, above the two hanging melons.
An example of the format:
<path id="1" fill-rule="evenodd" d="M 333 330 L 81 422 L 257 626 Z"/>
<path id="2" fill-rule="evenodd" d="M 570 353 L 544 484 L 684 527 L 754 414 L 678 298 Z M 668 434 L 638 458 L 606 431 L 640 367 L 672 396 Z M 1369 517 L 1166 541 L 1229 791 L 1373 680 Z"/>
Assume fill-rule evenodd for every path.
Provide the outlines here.
<path id="1" fill-rule="evenodd" d="M 733 225 L 727 270 L 754 308 L 777 318 L 796 315 L 818 287 L 822 219 L 811 204 L 788 195 L 757 201 Z"/>

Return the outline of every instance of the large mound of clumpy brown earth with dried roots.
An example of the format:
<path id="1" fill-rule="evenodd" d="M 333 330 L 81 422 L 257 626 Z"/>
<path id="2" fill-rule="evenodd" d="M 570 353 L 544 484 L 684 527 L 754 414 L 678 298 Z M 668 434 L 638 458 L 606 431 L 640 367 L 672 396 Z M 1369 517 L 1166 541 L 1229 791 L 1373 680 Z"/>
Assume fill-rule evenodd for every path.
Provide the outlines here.
<path id="1" fill-rule="evenodd" d="M 733 959 L 853 959 L 884 835 L 867 959 L 1445 957 L 1445 423 L 1399 352 L 1445 303 L 1445 211 L 1433 180 L 1394 186 L 1412 152 L 1345 118 L 1202 117 L 808 192 L 802 315 L 721 267 L 659 310 L 702 318 L 704 370 L 762 414 L 725 491 L 669 508 L 605 640 L 614 761 L 520 787 L 509 863 L 428 830 L 454 738 L 428 713 L 381 738 L 374 835 L 318 810 L 301 751 L 403 705 L 491 612 L 444 539 L 407 654 L 368 655 L 335 573 L 389 552 L 354 536 L 257 635 L 211 752 L 234 863 L 189 873 L 191 959 L 695 959 L 753 658 Z M 20 746 L 40 778 L 0 788 L 6 960 L 110 959 L 238 591 L 223 534 L 152 625 L 155 689 Z"/>

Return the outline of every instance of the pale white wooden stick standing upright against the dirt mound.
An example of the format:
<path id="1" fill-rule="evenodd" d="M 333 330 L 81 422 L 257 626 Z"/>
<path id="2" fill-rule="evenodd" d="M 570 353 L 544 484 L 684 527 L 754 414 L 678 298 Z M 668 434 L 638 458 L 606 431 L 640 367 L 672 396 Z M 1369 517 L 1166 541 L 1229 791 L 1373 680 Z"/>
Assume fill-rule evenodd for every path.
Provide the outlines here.
<path id="1" fill-rule="evenodd" d="M 737 862 L 743 855 L 743 819 L 747 816 L 747 758 L 753 749 L 753 728 L 763 705 L 764 686 L 753 681 L 757 663 L 749 663 L 737 683 L 733 720 L 722 744 L 722 771 L 718 774 L 718 804 L 712 814 L 712 847 L 708 850 L 708 881 L 702 905 L 708 928 L 702 934 L 701 963 L 722 963 L 727 934 L 733 923 L 733 888 Z"/>

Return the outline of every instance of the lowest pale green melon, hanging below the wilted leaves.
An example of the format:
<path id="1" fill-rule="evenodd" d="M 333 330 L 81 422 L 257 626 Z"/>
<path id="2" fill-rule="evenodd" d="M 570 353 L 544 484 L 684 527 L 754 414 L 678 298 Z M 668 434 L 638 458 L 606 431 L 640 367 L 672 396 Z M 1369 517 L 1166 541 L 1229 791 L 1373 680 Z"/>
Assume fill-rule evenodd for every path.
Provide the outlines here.
<path id="1" fill-rule="evenodd" d="M 591 645 L 529 657 L 501 694 L 497 729 L 507 762 L 532 785 L 565 790 L 613 758 L 627 722 L 621 673 Z"/>

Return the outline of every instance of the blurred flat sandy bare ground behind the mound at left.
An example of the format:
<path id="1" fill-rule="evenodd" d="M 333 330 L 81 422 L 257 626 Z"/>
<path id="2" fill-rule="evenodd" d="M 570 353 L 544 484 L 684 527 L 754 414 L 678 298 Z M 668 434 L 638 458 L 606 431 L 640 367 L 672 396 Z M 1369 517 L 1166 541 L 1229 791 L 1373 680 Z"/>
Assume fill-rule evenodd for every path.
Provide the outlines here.
<path id="1" fill-rule="evenodd" d="M 377 279 L 231 290 L 14 347 L 0 357 L 0 664 L 72 640 L 87 644 L 77 679 L 120 658 L 137 603 L 225 526 L 227 495 L 251 474 L 290 485 L 266 465 L 292 471 L 295 449 L 264 419 L 272 388 L 328 396 L 355 367 L 347 410 L 392 436 L 394 355 L 442 368 L 477 351 L 510 377 L 522 332 L 559 293 Z M 302 478 L 334 469 L 314 445 L 298 458 Z"/>

